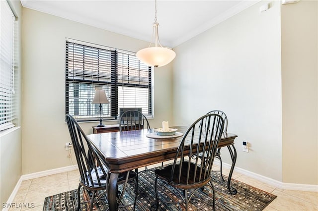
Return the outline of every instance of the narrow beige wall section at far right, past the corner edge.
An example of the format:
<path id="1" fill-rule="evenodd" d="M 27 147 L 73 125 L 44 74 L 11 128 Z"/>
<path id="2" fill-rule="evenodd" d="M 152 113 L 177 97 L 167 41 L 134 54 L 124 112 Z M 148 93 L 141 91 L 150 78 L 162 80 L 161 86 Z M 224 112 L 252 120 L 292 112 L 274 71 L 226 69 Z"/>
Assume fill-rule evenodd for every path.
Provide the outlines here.
<path id="1" fill-rule="evenodd" d="M 283 182 L 318 184 L 318 1 L 282 5 Z"/>

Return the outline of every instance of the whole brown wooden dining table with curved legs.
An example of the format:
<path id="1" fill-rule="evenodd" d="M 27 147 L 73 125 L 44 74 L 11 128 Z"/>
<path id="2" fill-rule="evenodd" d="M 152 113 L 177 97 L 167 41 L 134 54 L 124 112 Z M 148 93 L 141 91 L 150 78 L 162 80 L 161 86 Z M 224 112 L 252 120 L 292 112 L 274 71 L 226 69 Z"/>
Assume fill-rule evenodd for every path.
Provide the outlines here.
<path id="1" fill-rule="evenodd" d="M 117 180 L 119 173 L 140 167 L 174 159 L 176 151 L 182 140 L 187 126 L 170 127 L 177 129 L 178 137 L 150 136 L 155 134 L 155 129 L 142 129 L 130 131 L 117 131 L 87 135 L 88 141 L 94 145 L 98 154 L 108 165 L 110 176 L 107 187 L 107 201 L 110 211 L 117 211 Z M 236 194 L 237 190 L 231 186 L 231 178 L 235 167 L 237 152 L 234 147 L 236 134 L 224 132 L 218 147 L 227 147 L 232 159 L 232 166 L 228 176 L 228 190 Z M 187 143 L 187 141 L 185 141 Z"/>

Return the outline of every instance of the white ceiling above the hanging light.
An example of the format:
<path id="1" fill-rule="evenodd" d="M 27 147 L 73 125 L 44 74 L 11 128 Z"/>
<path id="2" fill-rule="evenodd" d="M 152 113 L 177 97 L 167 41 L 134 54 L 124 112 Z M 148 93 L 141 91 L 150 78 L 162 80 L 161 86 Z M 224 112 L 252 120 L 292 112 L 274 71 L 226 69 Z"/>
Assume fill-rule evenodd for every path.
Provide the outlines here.
<path id="1" fill-rule="evenodd" d="M 259 0 L 158 0 L 163 46 L 173 48 Z M 24 7 L 127 35 L 152 38 L 154 0 L 21 0 Z"/>

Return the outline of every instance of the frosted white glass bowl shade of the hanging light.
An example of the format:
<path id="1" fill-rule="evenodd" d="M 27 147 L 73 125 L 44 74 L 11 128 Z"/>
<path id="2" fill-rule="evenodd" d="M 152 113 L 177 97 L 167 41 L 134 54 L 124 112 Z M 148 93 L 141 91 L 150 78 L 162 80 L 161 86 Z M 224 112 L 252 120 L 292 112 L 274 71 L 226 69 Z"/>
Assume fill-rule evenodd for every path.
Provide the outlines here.
<path id="1" fill-rule="evenodd" d="M 139 50 L 136 56 L 145 64 L 161 67 L 170 63 L 174 59 L 175 53 L 168 48 L 151 47 Z"/>

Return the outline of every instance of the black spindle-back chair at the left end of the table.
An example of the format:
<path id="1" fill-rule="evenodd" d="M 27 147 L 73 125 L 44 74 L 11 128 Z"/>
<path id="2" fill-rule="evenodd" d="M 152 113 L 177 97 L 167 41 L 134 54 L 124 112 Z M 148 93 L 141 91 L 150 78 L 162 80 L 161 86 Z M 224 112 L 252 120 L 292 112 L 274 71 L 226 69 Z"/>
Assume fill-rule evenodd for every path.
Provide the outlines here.
<path id="1" fill-rule="evenodd" d="M 80 188 L 83 187 L 90 196 L 90 211 L 92 211 L 97 201 L 101 200 L 107 194 L 107 181 L 110 176 L 110 171 L 107 167 L 105 160 L 101 159 L 96 154 L 94 146 L 89 142 L 89 139 L 79 126 L 79 123 L 73 118 L 72 115 L 66 115 L 66 121 L 69 127 L 75 156 L 79 167 L 79 188 L 78 188 L 78 208 L 80 209 Z M 119 174 L 117 183 L 124 184 L 123 191 L 119 196 L 117 204 L 119 205 L 124 195 L 127 183 L 134 181 L 135 183 L 135 201 L 130 205 L 122 205 L 121 207 L 136 206 L 137 193 L 138 193 L 138 180 L 137 173 L 128 171 Z M 97 196 L 98 191 L 103 191 L 102 194 Z M 118 192 L 119 193 L 119 192 Z M 119 194 L 118 194 L 119 195 Z M 105 197 L 106 198 L 106 197 Z M 103 198 L 105 200 L 105 198 Z"/>

